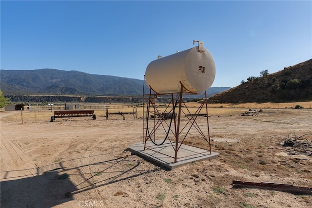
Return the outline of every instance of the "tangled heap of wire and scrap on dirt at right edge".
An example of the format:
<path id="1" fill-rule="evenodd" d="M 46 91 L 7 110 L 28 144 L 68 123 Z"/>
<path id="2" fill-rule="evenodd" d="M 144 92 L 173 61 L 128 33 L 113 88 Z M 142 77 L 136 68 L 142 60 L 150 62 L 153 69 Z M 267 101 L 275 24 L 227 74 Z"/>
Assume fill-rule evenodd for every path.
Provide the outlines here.
<path id="1" fill-rule="evenodd" d="M 273 136 L 270 139 L 276 145 L 291 149 L 289 154 L 306 154 L 312 156 L 312 133 L 296 136 L 295 133 L 288 134 L 287 138 Z"/>

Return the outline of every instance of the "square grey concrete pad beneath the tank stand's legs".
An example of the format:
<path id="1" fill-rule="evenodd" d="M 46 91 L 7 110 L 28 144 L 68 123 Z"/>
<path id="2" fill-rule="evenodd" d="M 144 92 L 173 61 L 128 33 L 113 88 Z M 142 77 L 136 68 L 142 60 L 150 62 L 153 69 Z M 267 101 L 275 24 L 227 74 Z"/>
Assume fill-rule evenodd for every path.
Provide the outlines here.
<path id="1" fill-rule="evenodd" d="M 160 144 L 162 140 L 156 140 L 156 144 Z M 181 146 L 180 146 L 181 145 Z M 134 143 L 127 148 L 132 154 L 137 154 L 146 160 L 156 162 L 157 164 L 166 167 L 169 170 L 177 167 L 192 163 L 194 161 L 200 161 L 205 159 L 213 159 L 219 155 L 219 153 L 211 152 L 201 148 L 192 147 L 185 144 L 178 143 L 180 148 L 177 151 L 177 159 L 175 163 L 175 149 L 176 142 L 170 143 L 166 141 L 164 144 L 157 146 L 150 140 L 146 142 L 146 148 L 144 150 L 144 143 Z"/>

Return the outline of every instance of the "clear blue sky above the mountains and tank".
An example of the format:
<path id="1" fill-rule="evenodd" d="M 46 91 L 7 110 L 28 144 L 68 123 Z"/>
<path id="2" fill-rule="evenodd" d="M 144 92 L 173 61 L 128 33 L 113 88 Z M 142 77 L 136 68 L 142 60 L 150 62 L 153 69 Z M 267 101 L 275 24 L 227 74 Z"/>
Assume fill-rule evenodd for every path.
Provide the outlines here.
<path id="1" fill-rule="evenodd" d="M 204 42 L 213 87 L 312 58 L 312 1 L 0 1 L 0 68 L 143 79 L 147 65 Z"/>

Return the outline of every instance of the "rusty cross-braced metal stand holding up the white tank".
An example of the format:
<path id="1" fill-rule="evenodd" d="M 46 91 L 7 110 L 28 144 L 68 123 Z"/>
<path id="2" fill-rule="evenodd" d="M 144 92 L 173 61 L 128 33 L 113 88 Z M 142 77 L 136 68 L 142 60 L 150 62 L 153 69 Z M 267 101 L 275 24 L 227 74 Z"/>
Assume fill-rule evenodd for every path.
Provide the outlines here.
<path id="1" fill-rule="evenodd" d="M 144 143 L 144 150 L 149 149 L 154 151 L 154 147 L 155 146 L 160 146 L 161 144 L 163 144 L 167 139 L 170 141 L 170 144 L 173 148 L 173 150 L 175 151 L 175 156 L 172 157 L 174 158 L 174 162 L 177 162 L 177 157 L 178 157 L 178 151 L 181 147 L 181 145 L 183 144 L 183 142 L 185 141 L 185 139 L 187 138 L 189 132 L 191 131 L 191 129 L 197 130 L 197 132 L 199 132 L 200 136 L 208 143 L 208 148 L 202 148 L 207 150 L 207 152 L 210 152 L 210 154 L 212 153 L 211 151 L 211 142 L 210 142 L 210 132 L 209 132 L 209 120 L 208 120 L 208 105 L 207 105 L 207 93 L 206 91 L 204 92 L 205 95 L 205 99 L 204 101 L 201 103 L 201 105 L 197 108 L 195 113 L 191 113 L 188 109 L 188 107 L 185 105 L 185 102 L 183 100 L 183 95 L 199 95 L 199 94 L 203 94 L 203 93 L 197 93 L 197 92 L 189 92 L 182 83 L 181 87 L 180 87 L 180 91 L 179 93 L 171 93 L 171 94 L 159 94 L 156 93 L 151 86 L 150 87 L 150 92 L 147 95 L 144 95 L 144 91 L 143 91 L 143 139 L 142 142 Z M 169 113 L 171 114 L 171 120 L 170 122 L 168 121 L 168 119 L 166 119 L 162 113 L 160 113 L 160 111 L 157 109 L 155 100 L 157 97 L 160 96 L 171 96 L 171 102 L 168 104 L 168 106 L 166 107 L 166 111 L 168 109 Z M 144 103 L 144 96 L 148 96 L 148 101 L 147 103 Z M 176 101 L 175 101 L 175 96 L 177 97 Z M 208 135 L 200 129 L 199 125 L 196 122 L 196 118 L 198 117 L 198 115 L 200 114 L 200 111 L 202 110 L 202 108 L 205 107 L 206 108 L 206 117 L 207 117 L 207 129 L 208 129 Z M 176 108 L 177 109 L 177 113 L 176 113 Z M 186 113 L 189 113 L 188 116 Z M 176 116 L 177 114 L 177 116 Z M 182 124 L 181 123 L 181 117 L 182 114 L 184 114 L 187 117 L 187 121 L 186 123 Z M 145 117 L 146 116 L 146 117 Z M 146 122 L 146 125 L 144 125 Z M 166 133 L 165 138 L 163 138 L 163 142 L 160 144 L 156 144 L 155 140 L 156 140 L 156 131 L 159 129 L 163 129 L 164 132 Z M 182 135 L 182 132 L 184 135 Z M 147 141 L 151 140 L 154 145 L 152 146 L 147 146 Z M 169 156 L 169 155 L 166 155 Z"/>

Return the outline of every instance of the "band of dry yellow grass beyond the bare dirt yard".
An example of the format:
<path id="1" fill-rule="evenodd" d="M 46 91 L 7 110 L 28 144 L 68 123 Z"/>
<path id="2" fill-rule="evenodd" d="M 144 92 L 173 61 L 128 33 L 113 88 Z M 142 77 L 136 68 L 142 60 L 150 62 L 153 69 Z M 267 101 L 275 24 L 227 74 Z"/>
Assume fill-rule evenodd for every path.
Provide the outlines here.
<path id="1" fill-rule="evenodd" d="M 106 115 L 106 110 L 97 110 L 99 109 L 98 104 L 90 103 L 91 109 L 95 110 L 95 114 L 97 115 L 97 119 L 106 119 L 104 116 Z M 195 113 L 198 107 L 201 105 L 196 102 L 185 103 L 188 107 L 188 111 L 186 108 L 182 108 L 185 114 Z M 210 116 L 215 115 L 230 115 L 230 114 L 240 114 L 244 111 L 248 111 L 249 109 L 260 110 L 260 109 L 288 109 L 295 108 L 296 105 L 300 105 L 305 109 L 311 109 L 312 102 L 294 102 L 294 103 L 243 103 L 243 104 L 208 104 L 208 114 Z M 205 106 L 204 106 L 205 107 Z M 109 113 L 126 113 L 126 118 L 133 118 L 133 108 L 134 105 L 126 105 L 122 103 L 110 104 L 109 105 Z M 145 113 L 143 116 L 143 108 L 142 105 L 139 105 L 137 108 L 137 118 L 145 117 Z M 144 109 L 144 111 L 146 108 Z M 157 110 L 160 112 L 170 111 L 171 109 L 166 109 L 166 104 L 158 104 Z M 130 114 L 127 114 L 130 113 Z M 203 108 L 200 113 L 206 113 L 206 109 Z M 53 111 L 27 111 L 24 110 L 20 113 L 17 113 L 14 116 L 10 117 L 11 121 L 14 122 L 50 122 L 50 118 L 53 115 Z M 104 118 L 103 118 L 104 117 Z M 70 119 L 70 118 L 63 118 Z M 75 118 L 79 119 L 79 118 Z M 83 118 L 85 119 L 85 118 Z M 90 117 L 90 119 L 92 119 Z M 121 115 L 109 115 L 109 119 L 122 119 Z"/>

